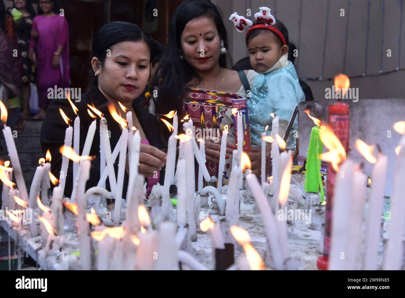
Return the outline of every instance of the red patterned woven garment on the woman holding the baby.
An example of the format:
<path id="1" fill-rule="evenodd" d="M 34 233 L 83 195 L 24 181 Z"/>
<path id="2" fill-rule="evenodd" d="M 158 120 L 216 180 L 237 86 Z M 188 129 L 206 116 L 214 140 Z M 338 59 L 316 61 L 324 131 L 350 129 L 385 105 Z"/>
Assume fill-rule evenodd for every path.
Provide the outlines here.
<path id="1" fill-rule="evenodd" d="M 231 114 L 232 99 L 240 99 L 241 96 L 222 91 L 204 90 L 199 88 L 187 88 L 183 99 L 183 108 L 179 119 L 190 115 L 193 120 L 194 134 L 196 139 L 212 139 L 212 137 L 221 137 L 222 130 L 228 125 L 227 141 L 235 144 L 235 132 L 233 118 Z M 183 131 L 183 127 L 179 127 Z M 231 160 L 225 162 L 224 184 L 227 184 L 231 169 Z M 211 176 L 218 177 L 218 164 L 206 163 L 208 172 Z M 198 176 L 198 165 L 196 165 L 196 174 Z M 197 181 L 197 179 L 196 179 Z"/>

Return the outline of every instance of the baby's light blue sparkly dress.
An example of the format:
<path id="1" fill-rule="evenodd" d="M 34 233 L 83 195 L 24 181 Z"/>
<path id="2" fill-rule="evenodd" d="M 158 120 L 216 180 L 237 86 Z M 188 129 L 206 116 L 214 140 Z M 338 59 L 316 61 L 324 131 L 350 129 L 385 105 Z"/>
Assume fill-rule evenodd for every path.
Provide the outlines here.
<path id="1" fill-rule="evenodd" d="M 257 75 L 253 82 L 251 97 L 247 100 L 252 143 L 257 146 L 262 144 L 262 132 L 266 125 L 269 125 L 267 135 L 270 134 L 273 120 L 270 113 L 279 116 L 279 121 L 290 121 L 295 106 L 301 101 L 305 101 L 305 95 L 292 62 L 280 69 Z M 288 149 L 295 150 L 294 131 L 297 129 L 296 118 L 287 139 Z"/>

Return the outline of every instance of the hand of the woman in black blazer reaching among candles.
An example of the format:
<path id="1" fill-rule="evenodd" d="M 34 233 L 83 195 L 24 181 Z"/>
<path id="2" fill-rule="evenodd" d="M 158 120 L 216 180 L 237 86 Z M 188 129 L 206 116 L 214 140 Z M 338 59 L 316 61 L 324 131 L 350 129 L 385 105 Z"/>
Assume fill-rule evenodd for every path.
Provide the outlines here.
<path id="1" fill-rule="evenodd" d="M 139 154 L 139 174 L 145 177 L 153 177 L 166 164 L 167 154 L 156 147 L 141 144 Z"/>

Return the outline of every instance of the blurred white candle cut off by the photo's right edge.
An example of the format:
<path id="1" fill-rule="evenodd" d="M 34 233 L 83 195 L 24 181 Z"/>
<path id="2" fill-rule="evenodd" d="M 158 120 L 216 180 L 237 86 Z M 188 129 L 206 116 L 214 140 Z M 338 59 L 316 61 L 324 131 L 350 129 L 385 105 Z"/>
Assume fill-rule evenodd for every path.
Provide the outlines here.
<path id="1" fill-rule="evenodd" d="M 403 177 L 405 176 L 405 135 L 399 141 L 401 149 L 396 159 L 394 184 L 391 196 L 391 225 L 388 229 L 390 239 L 384 254 L 384 270 L 401 270 L 404 247 L 405 200 L 403 198 Z M 373 181 L 375 178 L 373 179 Z M 369 211 L 370 212 L 370 211 Z"/>

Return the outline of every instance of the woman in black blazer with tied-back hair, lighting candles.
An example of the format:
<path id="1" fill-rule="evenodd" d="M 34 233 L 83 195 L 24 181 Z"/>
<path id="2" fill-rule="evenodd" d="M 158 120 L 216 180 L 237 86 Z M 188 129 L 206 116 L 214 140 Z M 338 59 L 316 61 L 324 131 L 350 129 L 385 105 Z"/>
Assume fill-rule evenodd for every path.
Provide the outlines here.
<path id="1" fill-rule="evenodd" d="M 81 94 L 80 99 L 72 99 L 72 102 L 79 109 L 80 154 L 83 150 L 88 128 L 93 121 L 87 112 L 87 104 L 93 105 L 104 114 L 108 129 L 111 132 L 109 139 L 111 151 L 115 148 L 122 130 L 111 116 L 108 106 L 115 105 L 118 107 L 118 111 L 119 102 L 132 111 L 133 124 L 140 130 L 143 143 L 141 144 L 141 154 L 139 156 L 139 174 L 143 174 L 145 177 L 154 177 L 154 181 L 148 178 L 148 183 L 156 184 L 158 182 L 156 173 L 160 172 L 166 163 L 166 154 L 159 150 L 160 133 L 158 131 L 158 122 L 153 115 L 143 110 L 141 105 L 134 100 L 146 88 L 150 76 L 149 64 L 152 46 L 150 36 L 134 24 L 111 22 L 102 26 L 94 36 L 93 41 L 93 82 L 87 93 Z M 50 92 L 53 92 L 53 90 Z M 62 108 L 68 118 L 75 119 L 76 115 L 66 98 L 53 99 L 47 109 L 40 136 L 43 153 L 45 154 L 48 149 L 51 152 L 51 172 L 57 178 L 60 177 L 62 165 L 60 148 L 64 145 L 64 135 L 67 127 L 60 115 L 59 108 Z M 125 118 L 126 113 L 121 114 Z M 87 181 L 86 189 L 96 186 L 100 179 L 99 130 L 100 121 L 97 120 L 96 134 L 89 154 L 95 156 L 95 159 L 92 160 L 90 179 Z M 117 161 L 114 164 L 116 173 Z M 72 167 L 72 161 L 70 161 L 68 173 L 66 174 L 65 197 L 70 197 L 72 192 Z M 127 185 L 128 172 L 126 171 L 123 198 L 126 197 Z M 106 188 L 110 190 L 108 178 Z"/>

